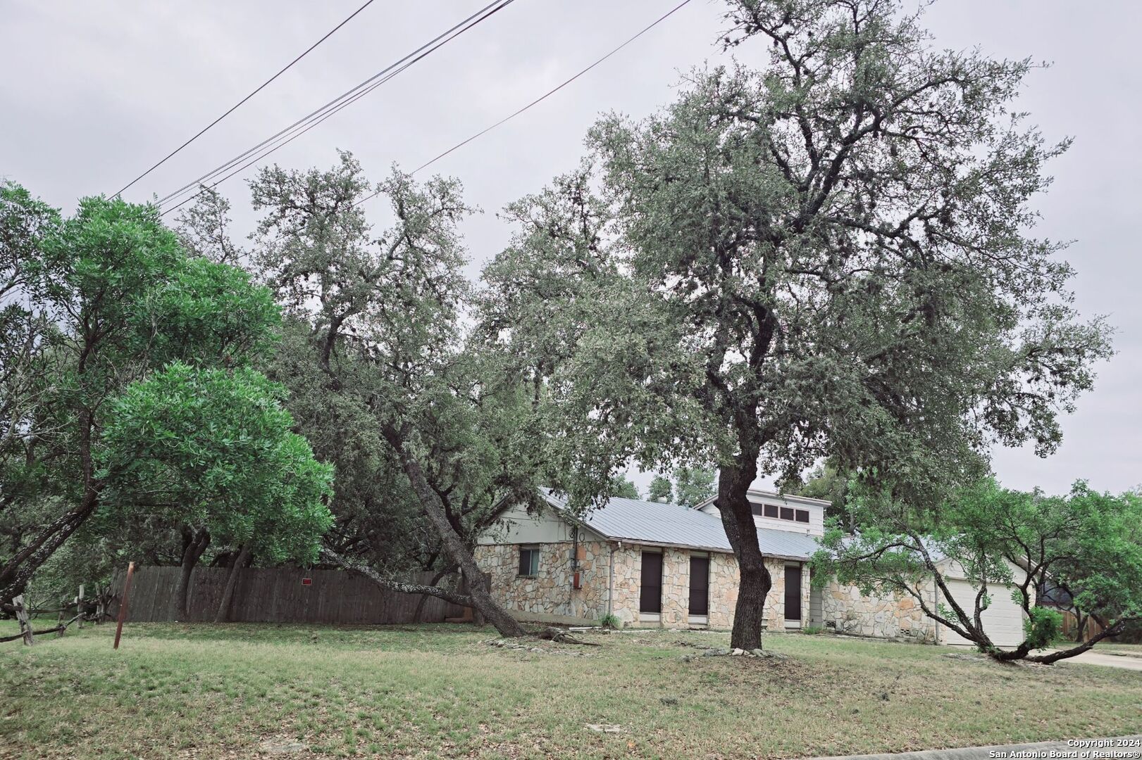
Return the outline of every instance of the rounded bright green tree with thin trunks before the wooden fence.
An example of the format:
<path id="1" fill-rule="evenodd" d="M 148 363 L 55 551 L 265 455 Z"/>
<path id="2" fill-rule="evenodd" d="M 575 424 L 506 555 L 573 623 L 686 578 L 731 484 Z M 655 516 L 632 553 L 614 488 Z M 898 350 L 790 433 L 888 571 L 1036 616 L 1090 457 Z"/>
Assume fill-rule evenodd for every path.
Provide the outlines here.
<path id="1" fill-rule="evenodd" d="M 240 547 L 235 571 L 250 555 L 315 561 L 332 523 L 333 472 L 291 431 L 284 395 L 251 369 L 182 362 L 129 386 L 111 404 L 98 454 L 102 517 L 128 524 L 169 514 L 192 534 Z M 184 565 L 174 600 L 179 615 L 186 614 L 188 575 Z"/>

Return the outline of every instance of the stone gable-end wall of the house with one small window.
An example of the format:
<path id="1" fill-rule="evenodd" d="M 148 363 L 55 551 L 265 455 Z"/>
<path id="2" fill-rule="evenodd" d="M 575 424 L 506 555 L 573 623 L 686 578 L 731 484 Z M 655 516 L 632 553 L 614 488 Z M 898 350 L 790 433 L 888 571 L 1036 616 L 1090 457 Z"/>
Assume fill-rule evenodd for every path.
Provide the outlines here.
<path id="1" fill-rule="evenodd" d="M 605 541 L 579 543 L 581 588 L 573 589 L 573 545 L 570 541 L 538 544 L 534 577 L 518 575 L 520 544 L 481 544 L 475 558 L 491 579 L 492 596 L 512 612 L 597 621 L 606 614 L 610 547 Z"/>

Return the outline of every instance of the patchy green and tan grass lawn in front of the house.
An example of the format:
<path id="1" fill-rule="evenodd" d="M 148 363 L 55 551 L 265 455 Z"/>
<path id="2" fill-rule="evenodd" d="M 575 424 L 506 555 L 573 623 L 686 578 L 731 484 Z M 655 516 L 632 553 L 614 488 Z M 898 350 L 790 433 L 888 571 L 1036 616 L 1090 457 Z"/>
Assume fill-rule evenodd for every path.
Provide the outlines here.
<path id="1" fill-rule="evenodd" d="M 136 623 L 113 652 L 113 633 L 0 648 L 0 757 L 791 758 L 1142 731 L 1139 672 L 827 636 L 687 662 L 727 637 L 531 652 L 460 625 Z"/>

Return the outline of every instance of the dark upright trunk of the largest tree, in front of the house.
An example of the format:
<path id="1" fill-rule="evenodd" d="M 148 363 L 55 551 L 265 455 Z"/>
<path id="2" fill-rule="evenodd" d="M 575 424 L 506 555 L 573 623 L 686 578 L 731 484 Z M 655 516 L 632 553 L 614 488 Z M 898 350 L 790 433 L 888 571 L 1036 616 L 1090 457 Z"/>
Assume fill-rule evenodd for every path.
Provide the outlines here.
<path id="1" fill-rule="evenodd" d="M 765 597 L 773 579 L 765 567 L 762 549 L 757 543 L 754 510 L 746 495 L 757 477 L 758 451 L 743 446 L 737 462 L 718 472 L 717 508 L 722 515 L 725 535 L 738 559 L 738 604 L 733 612 L 733 631 L 730 646 L 757 649 L 762 646 L 762 626 L 765 622 Z"/>

